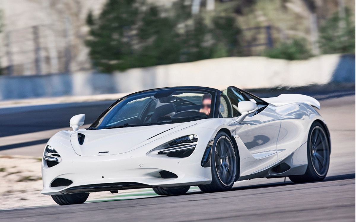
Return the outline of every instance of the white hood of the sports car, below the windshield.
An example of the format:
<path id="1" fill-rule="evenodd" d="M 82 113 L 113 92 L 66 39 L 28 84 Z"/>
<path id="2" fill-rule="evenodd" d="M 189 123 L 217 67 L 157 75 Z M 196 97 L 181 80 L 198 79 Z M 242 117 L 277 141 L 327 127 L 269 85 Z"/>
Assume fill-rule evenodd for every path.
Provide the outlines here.
<path id="1" fill-rule="evenodd" d="M 70 142 L 74 151 L 80 156 L 120 154 L 195 124 L 197 121 L 103 130 L 80 129 L 70 135 Z M 85 135 L 82 145 L 79 144 L 78 134 Z"/>

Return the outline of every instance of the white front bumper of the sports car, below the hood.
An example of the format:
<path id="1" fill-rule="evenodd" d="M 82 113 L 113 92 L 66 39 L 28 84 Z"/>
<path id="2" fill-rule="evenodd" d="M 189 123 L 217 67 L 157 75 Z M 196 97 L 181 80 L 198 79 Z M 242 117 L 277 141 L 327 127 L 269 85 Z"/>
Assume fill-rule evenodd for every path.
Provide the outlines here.
<path id="1" fill-rule="evenodd" d="M 211 183 L 211 168 L 202 167 L 201 159 L 215 130 L 200 128 L 198 144 L 189 157 L 176 158 L 147 155 L 162 140 L 153 141 L 127 153 L 101 156 L 79 156 L 69 145 L 51 139 L 49 143 L 61 155 L 61 162 L 47 167 L 42 161 L 42 194 L 55 195 L 106 190 L 138 189 Z M 195 132 L 193 132 L 195 133 Z M 187 133 L 188 135 L 189 133 Z M 173 137 L 179 137 L 174 136 Z M 172 137 L 172 138 L 173 138 Z M 205 142 L 206 141 L 206 142 Z M 164 179 L 162 170 L 176 174 L 177 178 Z M 69 186 L 52 187 L 57 178 L 72 180 Z"/>

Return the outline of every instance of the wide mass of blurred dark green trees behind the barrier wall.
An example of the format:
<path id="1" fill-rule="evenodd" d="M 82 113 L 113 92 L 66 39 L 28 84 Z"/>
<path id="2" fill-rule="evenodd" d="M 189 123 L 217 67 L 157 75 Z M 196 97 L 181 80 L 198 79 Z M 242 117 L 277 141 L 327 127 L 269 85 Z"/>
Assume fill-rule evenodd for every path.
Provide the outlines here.
<path id="1" fill-rule="evenodd" d="M 105 72 L 239 55 L 236 18 L 211 20 L 192 16 L 184 0 L 171 9 L 145 0 L 109 0 L 98 18 L 88 14 L 86 43 L 94 66 Z"/>

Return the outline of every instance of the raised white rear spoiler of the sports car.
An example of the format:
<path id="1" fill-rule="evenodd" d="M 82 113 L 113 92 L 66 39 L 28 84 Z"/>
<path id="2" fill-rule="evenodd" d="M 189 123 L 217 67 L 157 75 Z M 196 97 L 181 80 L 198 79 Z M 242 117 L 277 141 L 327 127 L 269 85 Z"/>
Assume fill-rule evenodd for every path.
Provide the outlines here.
<path id="1" fill-rule="evenodd" d="M 305 96 L 301 94 L 281 94 L 277 97 L 262 98 L 267 103 L 272 103 L 273 105 L 285 105 L 289 103 L 307 103 L 312 107 L 320 109 L 320 103 L 318 100 L 310 96 Z"/>

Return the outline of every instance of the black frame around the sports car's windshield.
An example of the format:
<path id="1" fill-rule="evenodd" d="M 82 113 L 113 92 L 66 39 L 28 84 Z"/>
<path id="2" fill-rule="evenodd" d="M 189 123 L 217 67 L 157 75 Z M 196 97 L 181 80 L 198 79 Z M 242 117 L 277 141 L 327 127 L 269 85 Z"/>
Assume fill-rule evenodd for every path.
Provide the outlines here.
<path id="1" fill-rule="evenodd" d="M 120 99 L 118 99 L 117 101 L 115 101 L 114 103 L 112 103 L 110 105 L 110 107 L 108 107 L 87 129 L 98 129 L 96 128 L 99 123 L 100 120 L 108 113 L 110 112 L 110 110 L 115 107 L 115 105 L 117 105 L 117 103 L 120 103 L 122 101 L 124 101 L 127 98 L 130 98 L 131 96 L 137 96 L 142 94 L 142 96 L 144 96 L 144 94 L 147 93 L 157 93 L 157 92 L 163 92 L 163 91 L 168 91 L 168 90 L 173 90 L 173 91 L 197 91 L 197 92 L 201 92 L 201 93 L 209 93 L 211 94 L 211 116 L 208 116 L 207 118 L 203 118 L 203 119 L 210 119 L 210 118 L 218 118 L 218 112 L 216 112 L 216 110 L 219 111 L 219 109 L 217 109 L 217 107 L 220 105 L 220 101 L 217 102 L 217 98 L 220 98 L 220 94 L 221 91 L 213 89 L 213 88 L 208 88 L 208 87 L 168 87 L 168 88 L 158 88 L 158 89 L 153 89 L 153 90 L 145 90 L 145 91 L 140 91 L 140 92 L 136 92 L 136 93 L 132 93 L 129 94 L 127 96 L 121 97 Z M 189 121 L 196 121 L 196 120 L 187 120 L 187 121 L 182 121 L 182 122 L 189 122 Z M 175 124 L 176 122 L 164 122 L 164 123 L 153 123 L 151 125 L 162 125 L 162 124 Z"/>

